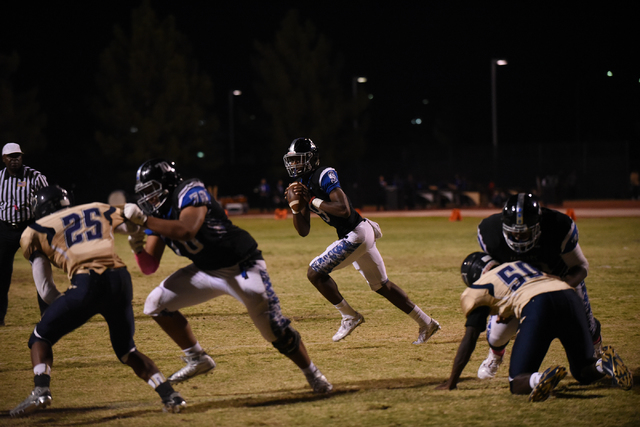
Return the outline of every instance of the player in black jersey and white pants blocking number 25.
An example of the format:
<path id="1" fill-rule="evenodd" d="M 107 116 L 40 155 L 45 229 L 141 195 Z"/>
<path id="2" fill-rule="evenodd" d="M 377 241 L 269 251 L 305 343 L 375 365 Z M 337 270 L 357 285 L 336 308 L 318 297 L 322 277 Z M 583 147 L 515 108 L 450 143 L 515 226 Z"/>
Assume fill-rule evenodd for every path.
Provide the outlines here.
<path id="1" fill-rule="evenodd" d="M 144 305 L 145 314 L 185 354 L 186 366 L 169 381 L 186 381 L 216 366 L 179 310 L 230 295 L 246 307 L 264 339 L 302 370 L 314 392 L 330 392 L 333 386 L 313 364 L 300 334 L 280 310 L 258 243 L 227 218 L 202 181 L 183 179 L 173 163 L 153 159 L 138 169 L 135 191 L 138 203 L 126 204 L 124 211 L 128 219 L 148 230 L 129 240 L 142 272 L 157 270 L 167 246 L 193 262 L 164 279 Z"/>

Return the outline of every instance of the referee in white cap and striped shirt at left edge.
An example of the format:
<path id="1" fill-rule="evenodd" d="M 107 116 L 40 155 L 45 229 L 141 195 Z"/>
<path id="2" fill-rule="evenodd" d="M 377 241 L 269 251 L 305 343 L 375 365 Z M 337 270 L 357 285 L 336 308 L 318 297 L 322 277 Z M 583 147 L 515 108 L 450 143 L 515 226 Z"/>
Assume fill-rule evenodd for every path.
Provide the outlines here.
<path id="1" fill-rule="evenodd" d="M 13 274 L 13 258 L 20 247 L 20 236 L 34 222 L 31 198 L 48 185 L 47 178 L 37 170 L 22 164 L 22 150 L 14 142 L 2 147 L 0 171 L 0 326 L 9 305 L 9 286 Z M 38 296 L 42 313 L 47 307 Z"/>

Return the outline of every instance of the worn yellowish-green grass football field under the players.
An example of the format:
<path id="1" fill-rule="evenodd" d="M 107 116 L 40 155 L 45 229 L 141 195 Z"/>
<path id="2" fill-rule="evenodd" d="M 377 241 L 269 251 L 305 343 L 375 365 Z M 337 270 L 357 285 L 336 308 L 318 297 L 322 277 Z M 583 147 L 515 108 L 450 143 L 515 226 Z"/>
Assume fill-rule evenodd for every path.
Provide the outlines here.
<path id="1" fill-rule="evenodd" d="M 181 414 L 161 412 L 159 398 L 125 365 L 109 344 L 106 324 L 93 318 L 54 346 L 52 406 L 28 419 L 8 411 L 33 387 L 27 348 L 38 321 L 29 264 L 16 255 L 7 326 L 0 328 L 0 424 L 190 425 L 190 426 L 594 426 L 640 425 L 640 386 L 624 392 L 606 383 L 580 386 L 571 376 L 555 397 L 531 404 L 512 396 L 507 366 L 490 381 L 476 378 L 487 354 L 484 334 L 458 390 L 437 391 L 449 375 L 464 332 L 459 297 L 463 258 L 477 250 L 476 219 L 379 218 L 378 246 L 389 277 L 442 325 L 428 343 L 414 346 L 418 327 L 371 292 L 351 268 L 334 274 L 341 292 L 366 323 L 334 343 L 338 312 L 306 280 L 308 262 L 335 239 L 314 219 L 300 238 L 290 219 L 234 218 L 258 240 L 284 313 L 302 334 L 313 361 L 335 391 L 311 393 L 304 376 L 264 342 L 235 300 L 218 298 L 184 310 L 201 344 L 216 360 L 214 373 L 176 388 L 188 402 Z M 640 379 L 640 218 L 579 219 L 580 244 L 590 261 L 587 287 L 606 345 L 613 345 Z M 118 250 L 132 273 L 136 344 L 165 375 L 182 366 L 178 347 L 142 312 L 146 295 L 186 259 L 165 253 L 160 270 L 143 276 L 118 237 Z M 56 272 L 59 289 L 68 285 Z M 510 347 L 507 349 L 509 354 Z M 555 341 L 543 363 L 567 364 Z M 506 365 L 506 364 L 505 364 Z M 640 381 L 637 380 L 636 383 Z"/>

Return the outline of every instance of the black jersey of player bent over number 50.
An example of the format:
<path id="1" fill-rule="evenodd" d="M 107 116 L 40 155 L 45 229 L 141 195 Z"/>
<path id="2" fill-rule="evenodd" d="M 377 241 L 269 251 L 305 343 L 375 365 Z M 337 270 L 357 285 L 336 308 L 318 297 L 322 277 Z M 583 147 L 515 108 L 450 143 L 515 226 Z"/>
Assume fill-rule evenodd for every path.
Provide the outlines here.
<path id="1" fill-rule="evenodd" d="M 531 250 L 517 253 L 509 248 L 502 235 L 501 214 L 494 214 L 480 222 L 478 243 L 500 263 L 524 261 L 545 273 L 563 277 L 568 267 L 562 255 L 578 245 L 578 228 L 567 215 L 542 208 L 538 242 Z"/>

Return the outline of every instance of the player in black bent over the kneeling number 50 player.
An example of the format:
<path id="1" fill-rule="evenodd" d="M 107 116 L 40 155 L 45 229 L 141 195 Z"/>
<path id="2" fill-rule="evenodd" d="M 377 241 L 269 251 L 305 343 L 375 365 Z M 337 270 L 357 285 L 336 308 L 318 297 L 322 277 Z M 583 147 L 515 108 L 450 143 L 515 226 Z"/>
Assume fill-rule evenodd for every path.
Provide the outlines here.
<path id="1" fill-rule="evenodd" d="M 478 242 L 482 251 L 501 263 L 525 261 L 575 288 L 583 301 L 596 356 L 601 353 L 600 323 L 593 316 L 584 284 L 589 263 L 578 244 L 578 228 L 569 216 L 543 208 L 532 194 L 515 194 L 508 198 L 501 213 L 480 222 Z M 487 329 L 491 348 L 478 369 L 479 378 L 495 376 L 505 347 L 517 329 L 517 322 L 500 323 L 492 316 Z"/>

